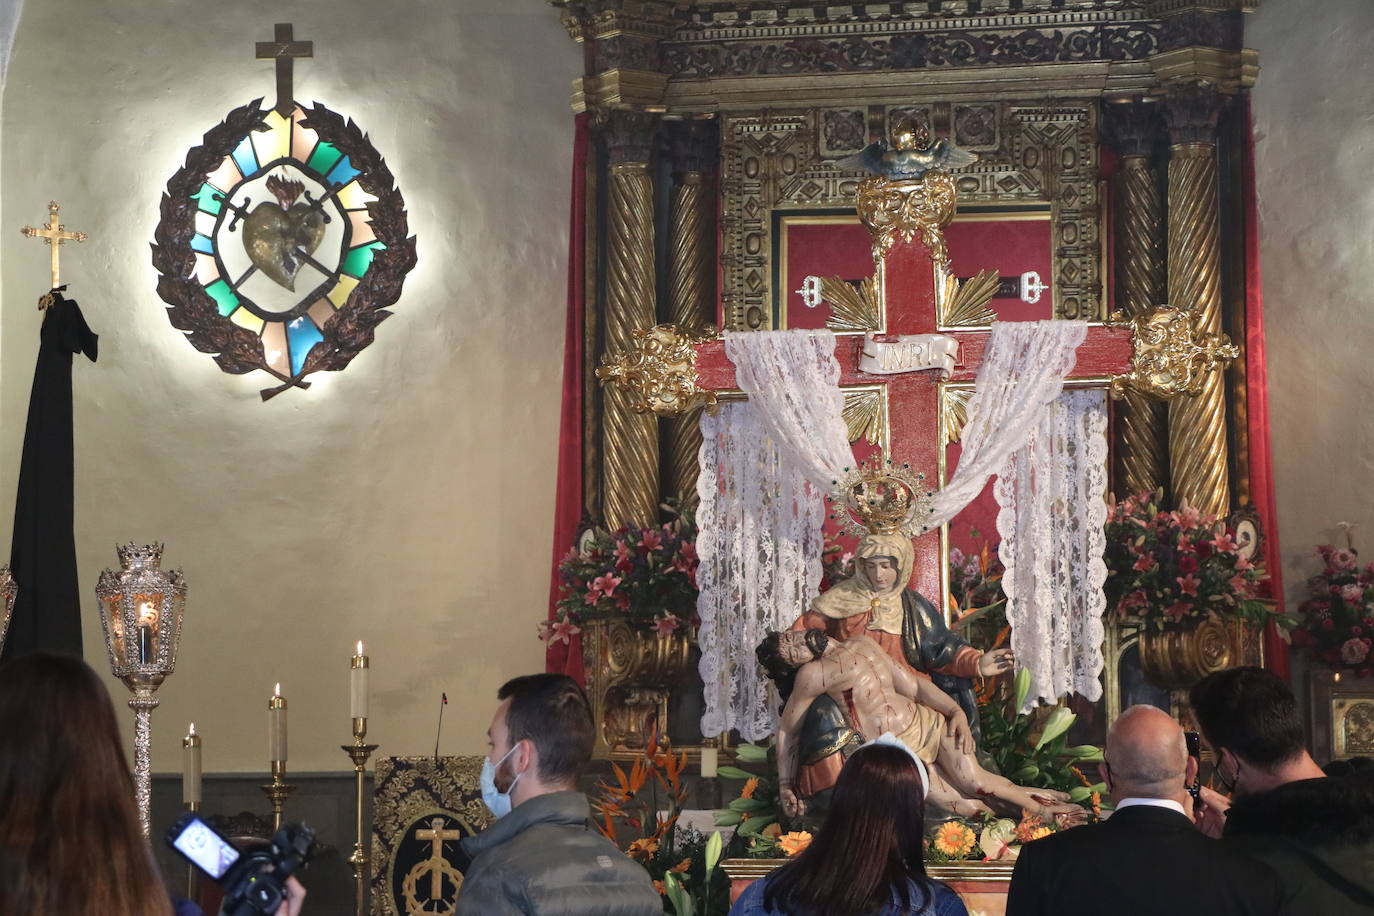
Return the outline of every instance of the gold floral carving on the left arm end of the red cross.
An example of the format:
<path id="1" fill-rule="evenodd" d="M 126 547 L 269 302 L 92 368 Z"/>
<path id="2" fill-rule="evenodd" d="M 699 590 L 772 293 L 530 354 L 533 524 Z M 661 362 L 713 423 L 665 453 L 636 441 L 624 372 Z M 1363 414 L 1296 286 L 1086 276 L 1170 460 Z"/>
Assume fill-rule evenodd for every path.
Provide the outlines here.
<path id="1" fill-rule="evenodd" d="M 703 341 L 719 338 L 716 328 L 699 335 L 687 334 L 676 324 L 655 324 L 631 331 L 629 343 L 620 353 L 607 353 L 596 378 L 628 393 L 636 413 L 653 411 L 658 416 L 682 416 L 694 407 L 714 407 L 716 393 L 697 386 L 697 350 Z"/>

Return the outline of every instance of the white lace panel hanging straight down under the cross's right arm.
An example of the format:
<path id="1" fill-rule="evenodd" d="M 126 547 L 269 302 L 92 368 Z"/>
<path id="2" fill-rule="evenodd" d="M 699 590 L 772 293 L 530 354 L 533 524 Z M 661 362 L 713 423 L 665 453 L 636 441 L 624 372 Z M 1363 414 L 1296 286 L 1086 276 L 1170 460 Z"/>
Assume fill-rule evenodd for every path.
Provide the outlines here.
<path id="1" fill-rule="evenodd" d="M 1102 696 L 1106 459 L 1105 393 L 1065 391 L 993 488 L 1011 648 L 1030 672 L 1025 710 Z"/>

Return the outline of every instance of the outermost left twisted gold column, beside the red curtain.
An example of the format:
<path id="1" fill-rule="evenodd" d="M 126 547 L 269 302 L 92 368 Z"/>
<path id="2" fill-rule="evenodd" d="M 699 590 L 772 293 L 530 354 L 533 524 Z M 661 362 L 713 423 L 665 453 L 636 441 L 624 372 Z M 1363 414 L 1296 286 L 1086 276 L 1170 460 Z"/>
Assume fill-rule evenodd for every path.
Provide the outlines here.
<path id="1" fill-rule="evenodd" d="M 657 323 L 654 181 L 649 173 L 657 117 L 611 111 L 606 125 L 606 332 L 603 353 L 629 347 L 631 331 Z M 605 391 L 602 516 L 607 526 L 658 523 L 658 417 L 635 413 L 628 396 Z"/>

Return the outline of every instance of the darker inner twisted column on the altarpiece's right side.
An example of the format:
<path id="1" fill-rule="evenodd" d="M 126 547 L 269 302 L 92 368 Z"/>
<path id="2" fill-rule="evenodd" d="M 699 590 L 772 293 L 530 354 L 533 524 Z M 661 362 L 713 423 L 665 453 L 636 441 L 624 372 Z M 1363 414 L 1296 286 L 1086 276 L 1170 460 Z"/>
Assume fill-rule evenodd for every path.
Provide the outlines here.
<path id="1" fill-rule="evenodd" d="M 1105 106 L 1106 130 L 1120 157 L 1116 192 L 1117 305 L 1129 317 L 1164 301 L 1164 202 L 1151 166 L 1160 122 L 1153 102 Z M 1117 412 L 1116 490 L 1157 490 L 1168 482 L 1167 411 L 1127 390 Z"/>

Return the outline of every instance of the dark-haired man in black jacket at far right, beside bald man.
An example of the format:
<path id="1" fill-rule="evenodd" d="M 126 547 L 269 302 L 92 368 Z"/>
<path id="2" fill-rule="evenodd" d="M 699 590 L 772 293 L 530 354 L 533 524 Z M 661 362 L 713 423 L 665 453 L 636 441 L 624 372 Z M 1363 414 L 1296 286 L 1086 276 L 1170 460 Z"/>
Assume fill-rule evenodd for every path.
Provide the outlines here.
<path id="1" fill-rule="evenodd" d="M 1198 828 L 1271 865 L 1292 912 L 1374 913 L 1374 777 L 1327 777 L 1292 691 L 1264 669 L 1209 674 L 1189 700 L 1232 794 L 1202 788 Z"/>

